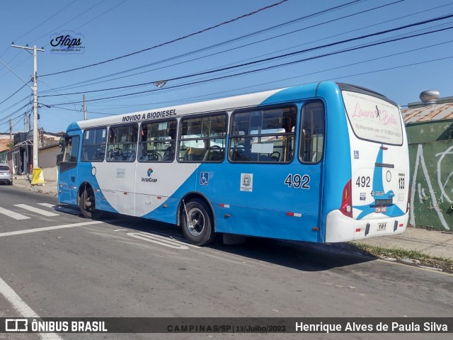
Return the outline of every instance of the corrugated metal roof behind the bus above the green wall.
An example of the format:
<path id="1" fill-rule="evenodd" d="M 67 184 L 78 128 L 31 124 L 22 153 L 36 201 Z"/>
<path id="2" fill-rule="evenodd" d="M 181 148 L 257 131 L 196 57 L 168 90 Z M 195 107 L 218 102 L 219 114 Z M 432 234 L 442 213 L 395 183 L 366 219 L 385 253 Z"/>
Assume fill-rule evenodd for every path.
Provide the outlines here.
<path id="1" fill-rule="evenodd" d="M 421 123 L 433 120 L 453 119 L 453 103 L 432 104 L 402 110 L 404 123 Z"/>

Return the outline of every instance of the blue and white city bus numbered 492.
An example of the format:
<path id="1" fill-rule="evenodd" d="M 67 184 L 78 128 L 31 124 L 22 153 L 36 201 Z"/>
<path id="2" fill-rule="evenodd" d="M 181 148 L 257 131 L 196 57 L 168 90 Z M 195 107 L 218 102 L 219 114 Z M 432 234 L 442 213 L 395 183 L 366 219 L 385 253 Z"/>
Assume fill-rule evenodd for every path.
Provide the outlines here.
<path id="1" fill-rule="evenodd" d="M 71 123 L 60 203 L 217 233 L 308 242 L 400 234 L 409 160 L 398 106 L 322 81 Z"/>

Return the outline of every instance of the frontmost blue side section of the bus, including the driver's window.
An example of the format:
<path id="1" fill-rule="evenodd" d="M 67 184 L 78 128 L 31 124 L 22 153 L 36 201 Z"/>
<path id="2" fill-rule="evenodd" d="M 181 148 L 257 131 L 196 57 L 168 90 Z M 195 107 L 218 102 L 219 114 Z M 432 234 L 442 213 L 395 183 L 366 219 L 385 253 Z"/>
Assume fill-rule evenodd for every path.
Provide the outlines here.
<path id="1" fill-rule="evenodd" d="M 79 144 L 79 136 L 66 137 L 63 159 L 58 164 L 58 200 L 60 203 L 77 204 Z"/>

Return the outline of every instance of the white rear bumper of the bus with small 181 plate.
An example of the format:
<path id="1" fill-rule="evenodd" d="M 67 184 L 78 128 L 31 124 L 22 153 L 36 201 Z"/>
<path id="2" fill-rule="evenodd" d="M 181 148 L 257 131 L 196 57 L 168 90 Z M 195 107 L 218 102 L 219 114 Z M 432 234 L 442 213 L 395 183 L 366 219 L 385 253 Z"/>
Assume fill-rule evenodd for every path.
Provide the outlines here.
<path id="1" fill-rule="evenodd" d="M 401 234 L 406 230 L 408 216 L 384 217 L 373 220 L 354 220 L 340 210 L 328 213 L 326 220 L 326 242 L 347 242 L 386 235 Z"/>

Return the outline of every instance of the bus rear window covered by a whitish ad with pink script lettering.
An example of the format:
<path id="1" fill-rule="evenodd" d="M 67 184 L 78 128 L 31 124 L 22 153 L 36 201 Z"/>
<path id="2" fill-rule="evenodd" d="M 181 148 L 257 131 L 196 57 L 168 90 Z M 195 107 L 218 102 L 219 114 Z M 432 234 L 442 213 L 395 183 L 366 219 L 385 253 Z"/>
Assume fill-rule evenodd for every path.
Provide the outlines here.
<path id="1" fill-rule="evenodd" d="M 355 135 L 389 145 L 403 145 L 400 113 L 396 106 L 380 98 L 341 91 L 349 123 Z"/>

